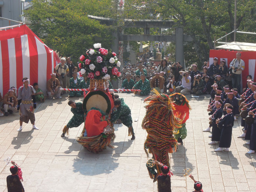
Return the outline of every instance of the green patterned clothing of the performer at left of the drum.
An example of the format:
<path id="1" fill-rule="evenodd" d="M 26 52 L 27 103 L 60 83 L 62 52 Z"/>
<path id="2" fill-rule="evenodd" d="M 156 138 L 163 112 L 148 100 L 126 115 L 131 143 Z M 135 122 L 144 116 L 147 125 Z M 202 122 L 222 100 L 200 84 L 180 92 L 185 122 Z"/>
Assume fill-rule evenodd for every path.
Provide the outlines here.
<path id="1" fill-rule="evenodd" d="M 85 122 L 83 104 L 80 102 L 75 104 L 76 108 L 70 109 L 74 115 L 67 123 L 68 128 L 78 127 L 79 125 Z"/>

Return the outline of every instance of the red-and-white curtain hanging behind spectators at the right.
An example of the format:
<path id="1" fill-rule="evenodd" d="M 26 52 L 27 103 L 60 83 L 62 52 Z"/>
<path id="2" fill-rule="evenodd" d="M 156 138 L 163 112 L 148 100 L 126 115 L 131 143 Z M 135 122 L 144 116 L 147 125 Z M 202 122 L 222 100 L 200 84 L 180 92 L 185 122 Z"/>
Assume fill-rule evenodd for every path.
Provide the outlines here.
<path id="1" fill-rule="evenodd" d="M 239 51 L 226 51 L 226 50 L 210 50 L 210 65 L 213 64 L 213 58 L 218 58 L 218 64 L 221 59 L 226 60 L 226 65 L 229 68 L 229 63 L 236 58 L 236 54 Z M 245 68 L 242 72 L 242 84 L 246 86 L 246 77 L 251 75 L 253 80 L 256 80 L 255 64 L 256 64 L 256 51 L 239 52 L 241 53 L 241 59 L 244 61 Z"/>

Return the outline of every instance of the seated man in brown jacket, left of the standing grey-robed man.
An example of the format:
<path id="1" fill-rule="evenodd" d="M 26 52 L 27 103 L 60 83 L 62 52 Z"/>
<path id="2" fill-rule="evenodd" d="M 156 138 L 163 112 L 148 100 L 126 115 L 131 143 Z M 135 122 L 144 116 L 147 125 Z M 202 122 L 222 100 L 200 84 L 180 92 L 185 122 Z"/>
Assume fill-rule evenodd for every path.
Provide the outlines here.
<path id="1" fill-rule="evenodd" d="M 5 116 L 8 116 L 8 113 L 17 112 L 18 100 L 13 95 L 13 92 L 13 89 L 9 89 L 8 94 L 4 96 Z"/>

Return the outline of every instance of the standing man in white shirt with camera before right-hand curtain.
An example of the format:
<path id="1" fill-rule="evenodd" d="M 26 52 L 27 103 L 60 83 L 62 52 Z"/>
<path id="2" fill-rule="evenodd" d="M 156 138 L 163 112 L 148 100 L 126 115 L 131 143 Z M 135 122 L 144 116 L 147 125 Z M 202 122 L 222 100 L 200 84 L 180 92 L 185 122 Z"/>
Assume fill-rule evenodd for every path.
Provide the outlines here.
<path id="1" fill-rule="evenodd" d="M 237 58 L 233 59 L 229 64 L 230 68 L 232 68 L 232 87 L 237 88 L 238 92 L 241 92 L 241 73 L 244 70 L 244 61 L 241 60 L 241 53 L 236 54 Z"/>

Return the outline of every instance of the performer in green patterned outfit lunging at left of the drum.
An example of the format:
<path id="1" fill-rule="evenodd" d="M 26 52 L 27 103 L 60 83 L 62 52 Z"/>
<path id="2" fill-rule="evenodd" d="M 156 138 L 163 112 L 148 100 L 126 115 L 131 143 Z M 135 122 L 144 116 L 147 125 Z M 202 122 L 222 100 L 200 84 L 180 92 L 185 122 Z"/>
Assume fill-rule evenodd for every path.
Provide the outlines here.
<path id="1" fill-rule="evenodd" d="M 71 112 L 74 114 L 73 117 L 68 121 L 67 125 L 65 125 L 63 129 L 63 133 L 61 134 L 61 137 L 65 136 L 65 133 L 68 135 L 68 129 L 73 127 L 78 127 L 82 123 L 85 122 L 84 118 L 84 110 L 83 110 L 83 104 L 78 102 L 75 103 L 72 100 L 68 101 L 67 103 L 71 107 Z"/>

